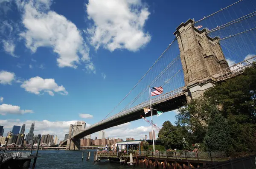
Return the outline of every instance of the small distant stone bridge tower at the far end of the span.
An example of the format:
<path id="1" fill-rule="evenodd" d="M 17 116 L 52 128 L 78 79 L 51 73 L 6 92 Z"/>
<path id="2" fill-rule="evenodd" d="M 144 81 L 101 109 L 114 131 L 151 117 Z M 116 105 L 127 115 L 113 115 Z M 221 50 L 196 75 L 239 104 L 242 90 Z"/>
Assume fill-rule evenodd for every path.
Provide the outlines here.
<path id="1" fill-rule="evenodd" d="M 73 138 L 73 135 L 81 132 L 81 121 L 77 121 L 75 124 L 70 124 L 70 130 L 67 138 L 67 150 L 79 150 L 80 149 L 80 139 Z"/>

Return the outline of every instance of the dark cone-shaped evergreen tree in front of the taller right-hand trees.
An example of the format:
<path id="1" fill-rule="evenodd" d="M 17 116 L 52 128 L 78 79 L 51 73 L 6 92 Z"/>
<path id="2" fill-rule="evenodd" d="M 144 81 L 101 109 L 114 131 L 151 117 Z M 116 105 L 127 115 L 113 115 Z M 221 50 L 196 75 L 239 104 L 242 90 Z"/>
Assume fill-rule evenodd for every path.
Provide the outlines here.
<path id="1" fill-rule="evenodd" d="M 230 152 L 230 129 L 227 119 L 221 114 L 211 115 L 207 133 L 204 137 L 204 145 L 207 151 L 225 151 Z"/>

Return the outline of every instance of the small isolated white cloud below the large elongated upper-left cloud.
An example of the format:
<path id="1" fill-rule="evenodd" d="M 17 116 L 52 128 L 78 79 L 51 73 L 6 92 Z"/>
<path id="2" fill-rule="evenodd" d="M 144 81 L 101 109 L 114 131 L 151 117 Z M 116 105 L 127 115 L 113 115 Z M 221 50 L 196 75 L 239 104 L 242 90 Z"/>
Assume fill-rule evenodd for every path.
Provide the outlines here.
<path id="1" fill-rule="evenodd" d="M 61 95 L 68 94 L 65 87 L 62 85 L 58 86 L 58 84 L 55 83 L 55 79 L 43 79 L 39 76 L 24 81 L 20 87 L 24 88 L 30 93 L 35 93 L 37 95 L 40 94 L 41 91 L 43 93 L 49 93 L 51 96 L 54 96 L 53 92 L 60 93 Z"/>

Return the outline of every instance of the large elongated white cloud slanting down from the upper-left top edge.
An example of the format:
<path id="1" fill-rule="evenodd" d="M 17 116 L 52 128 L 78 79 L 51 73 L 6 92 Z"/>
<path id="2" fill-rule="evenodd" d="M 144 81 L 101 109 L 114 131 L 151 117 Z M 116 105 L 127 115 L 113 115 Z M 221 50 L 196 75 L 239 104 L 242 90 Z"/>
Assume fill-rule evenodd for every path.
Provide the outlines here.
<path id="1" fill-rule="evenodd" d="M 58 54 L 59 67 L 77 68 L 80 60 L 90 62 L 89 48 L 76 25 L 63 15 L 49 10 L 52 0 L 20 1 L 24 11 L 22 23 L 26 30 L 20 34 L 33 53 L 38 47 L 52 47 Z"/>

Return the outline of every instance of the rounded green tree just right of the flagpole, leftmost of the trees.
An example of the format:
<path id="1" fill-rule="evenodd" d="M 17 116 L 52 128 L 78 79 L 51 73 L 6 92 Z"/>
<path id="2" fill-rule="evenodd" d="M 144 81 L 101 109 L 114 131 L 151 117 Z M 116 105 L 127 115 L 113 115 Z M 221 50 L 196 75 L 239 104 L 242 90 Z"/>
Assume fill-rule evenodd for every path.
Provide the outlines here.
<path id="1" fill-rule="evenodd" d="M 182 148 L 182 134 L 179 132 L 177 126 L 172 125 L 170 121 L 163 123 L 163 127 L 158 133 L 158 138 L 167 149 Z"/>

